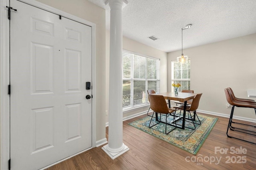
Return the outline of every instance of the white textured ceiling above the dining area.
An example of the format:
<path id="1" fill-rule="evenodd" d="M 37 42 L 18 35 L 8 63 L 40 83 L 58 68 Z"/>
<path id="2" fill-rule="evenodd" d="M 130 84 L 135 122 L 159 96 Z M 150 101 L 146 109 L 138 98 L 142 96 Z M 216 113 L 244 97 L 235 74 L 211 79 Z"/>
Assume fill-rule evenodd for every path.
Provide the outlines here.
<path id="1" fill-rule="evenodd" d="M 106 9 L 105 0 L 88 0 Z M 128 0 L 123 9 L 123 36 L 171 52 L 256 33 L 256 0 Z M 148 37 L 159 39 L 153 41 Z"/>

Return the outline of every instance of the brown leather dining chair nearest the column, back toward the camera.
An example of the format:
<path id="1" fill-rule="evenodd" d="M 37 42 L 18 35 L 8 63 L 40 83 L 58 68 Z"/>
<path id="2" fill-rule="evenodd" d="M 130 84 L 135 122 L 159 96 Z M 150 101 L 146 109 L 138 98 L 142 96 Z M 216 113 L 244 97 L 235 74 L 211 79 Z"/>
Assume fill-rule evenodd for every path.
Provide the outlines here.
<path id="1" fill-rule="evenodd" d="M 153 115 L 151 117 L 151 120 L 150 120 L 150 123 L 148 125 L 149 128 L 159 124 L 161 122 L 161 115 L 164 114 L 166 119 L 165 119 L 165 134 L 167 135 L 168 133 L 170 133 L 171 131 L 173 131 L 174 129 L 172 129 L 171 131 L 169 131 L 167 133 L 167 124 L 170 125 L 170 123 L 167 123 L 167 115 L 170 114 L 170 113 L 173 113 L 176 111 L 176 109 L 173 109 L 173 108 L 169 108 L 167 105 L 166 105 L 166 100 L 164 99 L 164 96 L 161 96 L 161 95 L 154 95 L 154 94 L 149 94 L 149 99 L 150 99 L 150 107 L 151 109 L 154 111 L 155 114 L 159 113 L 160 114 L 160 120 L 156 119 L 156 117 L 154 117 L 156 119 L 156 121 L 158 121 L 158 123 L 155 123 L 154 125 L 150 126 L 151 122 L 152 122 L 152 119 L 153 119 Z M 176 120 L 175 120 L 175 114 L 173 114 L 173 121 L 172 123 L 174 122 L 175 123 L 175 127 L 177 127 L 176 125 Z"/>

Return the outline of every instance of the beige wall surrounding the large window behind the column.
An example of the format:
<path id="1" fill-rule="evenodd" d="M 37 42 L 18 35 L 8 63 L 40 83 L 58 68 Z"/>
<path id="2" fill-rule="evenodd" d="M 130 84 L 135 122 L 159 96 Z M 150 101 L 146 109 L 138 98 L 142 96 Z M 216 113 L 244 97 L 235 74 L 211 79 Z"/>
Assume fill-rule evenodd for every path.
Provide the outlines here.
<path id="1" fill-rule="evenodd" d="M 109 45 L 110 45 L 110 31 L 106 30 L 106 110 L 108 110 L 108 95 L 109 95 Z M 167 91 L 167 53 L 154 49 L 132 39 L 123 37 L 123 49 L 132 51 L 138 54 L 147 55 L 160 59 L 160 90 Z M 122 57 L 122 56 L 121 56 Z M 136 111 L 126 112 L 123 117 L 130 116 L 136 113 L 147 111 L 148 107 L 138 109 Z M 106 116 L 108 122 L 108 116 Z"/>

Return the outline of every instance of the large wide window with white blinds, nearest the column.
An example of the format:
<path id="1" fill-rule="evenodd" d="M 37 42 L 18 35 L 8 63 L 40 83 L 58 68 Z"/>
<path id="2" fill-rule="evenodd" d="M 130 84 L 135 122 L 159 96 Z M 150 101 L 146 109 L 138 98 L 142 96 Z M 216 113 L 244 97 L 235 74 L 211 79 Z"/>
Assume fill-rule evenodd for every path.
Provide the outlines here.
<path id="1" fill-rule="evenodd" d="M 148 105 L 148 89 L 160 92 L 160 59 L 123 51 L 123 110 Z"/>

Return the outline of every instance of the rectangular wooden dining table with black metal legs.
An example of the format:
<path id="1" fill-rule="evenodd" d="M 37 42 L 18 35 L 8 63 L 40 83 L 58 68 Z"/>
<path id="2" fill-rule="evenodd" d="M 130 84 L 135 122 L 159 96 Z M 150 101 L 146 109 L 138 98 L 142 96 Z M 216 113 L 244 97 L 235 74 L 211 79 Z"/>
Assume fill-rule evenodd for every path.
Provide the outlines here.
<path id="1" fill-rule="evenodd" d="M 171 100 L 184 102 L 184 110 L 183 110 L 183 116 L 180 117 L 182 119 L 182 126 L 178 128 L 185 129 L 185 120 L 186 120 L 186 107 L 187 107 L 187 101 L 190 99 L 193 99 L 196 96 L 196 93 L 184 93 L 179 92 L 178 94 L 175 94 L 174 92 L 162 92 L 162 93 L 156 93 L 153 95 L 161 95 L 164 96 L 166 100 L 168 100 L 169 108 L 171 108 Z M 156 120 L 158 121 L 158 114 L 156 113 Z M 160 120 L 161 121 L 161 120 Z"/>

